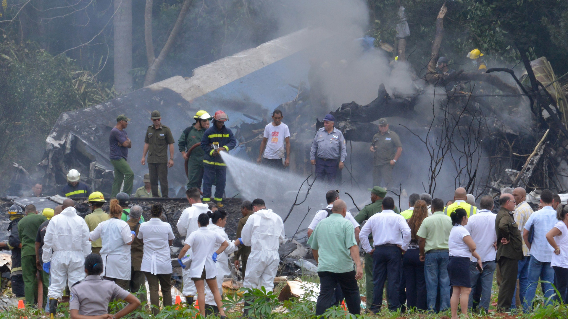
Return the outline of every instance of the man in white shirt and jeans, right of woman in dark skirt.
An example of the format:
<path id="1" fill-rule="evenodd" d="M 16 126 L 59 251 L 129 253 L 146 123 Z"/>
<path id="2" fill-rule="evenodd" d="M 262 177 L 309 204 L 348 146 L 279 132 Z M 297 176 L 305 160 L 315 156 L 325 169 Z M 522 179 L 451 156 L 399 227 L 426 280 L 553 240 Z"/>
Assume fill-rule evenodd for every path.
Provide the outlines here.
<path id="1" fill-rule="evenodd" d="M 495 233 L 495 219 L 497 214 L 492 212 L 493 198 L 483 196 L 479 202 L 481 210 L 469 217 L 465 229 L 470 233 L 471 239 L 477 245 L 477 253 L 483 263 L 483 271 L 477 269 L 477 258 L 471 257 L 469 267 L 471 276 L 471 289 L 481 289 L 481 300 L 479 307 L 489 313 L 489 302 L 491 301 L 491 286 L 493 284 L 493 274 L 495 272 L 495 255 L 497 253 L 497 233 Z M 478 279 L 481 277 L 481 287 L 478 287 Z M 469 295 L 468 308 L 473 307 L 473 295 Z"/>

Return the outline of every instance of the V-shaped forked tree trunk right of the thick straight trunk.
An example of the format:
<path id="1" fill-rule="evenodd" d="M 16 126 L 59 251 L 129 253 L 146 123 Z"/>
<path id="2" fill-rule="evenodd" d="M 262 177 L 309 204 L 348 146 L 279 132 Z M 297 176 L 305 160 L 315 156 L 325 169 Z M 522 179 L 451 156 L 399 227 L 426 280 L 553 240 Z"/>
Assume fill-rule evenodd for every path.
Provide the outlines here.
<path id="1" fill-rule="evenodd" d="M 168 40 L 166 41 L 164 48 L 162 48 L 162 50 L 160 51 L 160 54 L 158 54 L 158 57 L 153 58 L 153 59 L 152 59 L 152 57 L 154 56 L 154 48 L 153 48 L 153 44 L 152 44 L 152 34 L 151 34 L 151 32 L 152 32 L 152 7 L 150 6 L 150 8 L 148 9 L 148 2 L 152 2 L 152 0 L 147 0 L 146 10 L 144 12 L 144 32 L 145 32 L 145 39 L 146 39 L 146 45 L 147 45 L 146 53 L 148 54 L 148 71 L 146 72 L 146 77 L 144 79 L 144 86 L 148 86 L 148 85 L 151 85 L 152 83 L 156 82 L 156 74 L 157 74 L 158 70 L 160 69 L 162 62 L 164 62 L 166 56 L 170 52 L 170 49 L 172 49 L 172 46 L 174 44 L 174 41 L 176 41 L 176 37 L 177 37 L 179 31 L 181 31 L 183 19 L 185 19 L 185 16 L 187 15 L 187 12 L 189 11 L 189 7 L 191 6 L 191 3 L 193 3 L 193 0 L 184 0 L 183 1 L 183 5 L 181 7 L 181 10 L 179 11 L 179 15 L 178 15 L 178 18 L 176 20 L 176 23 L 174 24 L 174 27 L 172 28 L 172 32 L 168 36 Z M 148 35 L 148 32 L 150 32 L 149 35 Z M 150 60 L 153 60 L 152 63 L 150 63 Z"/>

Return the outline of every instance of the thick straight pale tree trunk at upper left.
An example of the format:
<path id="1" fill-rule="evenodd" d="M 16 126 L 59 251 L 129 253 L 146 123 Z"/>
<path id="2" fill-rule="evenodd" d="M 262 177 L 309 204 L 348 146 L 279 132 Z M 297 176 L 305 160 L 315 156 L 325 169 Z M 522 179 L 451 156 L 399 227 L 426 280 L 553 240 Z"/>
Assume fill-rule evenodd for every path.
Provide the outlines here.
<path id="1" fill-rule="evenodd" d="M 114 87 L 118 93 L 132 91 L 132 0 L 114 0 Z"/>

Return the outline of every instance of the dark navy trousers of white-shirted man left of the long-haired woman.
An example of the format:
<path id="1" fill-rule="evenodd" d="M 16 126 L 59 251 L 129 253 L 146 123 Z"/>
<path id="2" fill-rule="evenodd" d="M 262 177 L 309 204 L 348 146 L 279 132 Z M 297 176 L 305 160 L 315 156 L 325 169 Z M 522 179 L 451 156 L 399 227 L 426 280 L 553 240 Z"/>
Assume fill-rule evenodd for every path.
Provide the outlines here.
<path id="1" fill-rule="evenodd" d="M 378 313 L 383 303 L 383 287 L 385 280 L 389 279 L 387 286 L 387 301 L 389 310 L 400 308 L 399 288 L 400 272 L 402 271 L 402 251 L 395 245 L 375 246 L 373 252 L 373 305 L 370 310 Z"/>

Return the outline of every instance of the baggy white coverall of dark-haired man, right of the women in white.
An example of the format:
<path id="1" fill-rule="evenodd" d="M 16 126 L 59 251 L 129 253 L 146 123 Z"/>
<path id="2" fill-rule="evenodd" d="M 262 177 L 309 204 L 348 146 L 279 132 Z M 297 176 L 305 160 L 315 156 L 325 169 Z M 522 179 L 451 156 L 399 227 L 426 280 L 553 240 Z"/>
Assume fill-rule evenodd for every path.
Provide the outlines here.
<path id="1" fill-rule="evenodd" d="M 284 241 L 284 223 L 272 209 L 260 209 L 250 215 L 241 231 L 245 246 L 250 246 L 244 288 L 266 291 L 274 288 L 274 278 L 280 263 L 278 247 Z"/>

